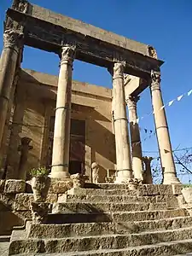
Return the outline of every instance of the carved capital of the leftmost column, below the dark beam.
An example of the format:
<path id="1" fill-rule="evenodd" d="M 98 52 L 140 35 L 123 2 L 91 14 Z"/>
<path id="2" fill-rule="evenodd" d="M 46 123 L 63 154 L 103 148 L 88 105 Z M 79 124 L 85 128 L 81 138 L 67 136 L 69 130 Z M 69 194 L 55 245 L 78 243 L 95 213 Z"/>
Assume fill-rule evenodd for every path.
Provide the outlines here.
<path id="1" fill-rule="evenodd" d="M 17 51 L 22 46 L 23 33 L 15 32 L 15 30 L 9 29 L 3 33 L 4 48 L 14 48 Z"/>

